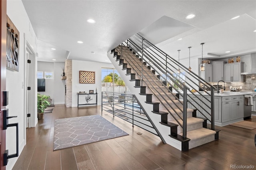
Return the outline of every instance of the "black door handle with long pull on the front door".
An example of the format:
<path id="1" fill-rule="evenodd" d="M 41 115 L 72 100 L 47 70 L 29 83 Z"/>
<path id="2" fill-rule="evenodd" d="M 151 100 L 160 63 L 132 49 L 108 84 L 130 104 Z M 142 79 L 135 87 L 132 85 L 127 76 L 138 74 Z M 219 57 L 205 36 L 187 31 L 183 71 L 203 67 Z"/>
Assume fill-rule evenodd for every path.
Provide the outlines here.
<path id="1" fill-rule="evenodd" d="M 10 118 L 16 118 L 17 116 L 8 116 L 8 109 L 4 109 L 3 110 L 3 130 L 6 130 L 8 127 L 16 127 L 16 153 L 15 154 L 8 154 L 8 150 L 4 151 L 4 166 L 7 165 L 8 163 L 8 159 L 10 158 L 14 158 L 14 157 L 18 157 L 18 153 L 19 153 L 19 132 L 18 132 L 18 123 L 13 123 L 13 124 L 9 124 L 8 123 L 8 119 Z"/>

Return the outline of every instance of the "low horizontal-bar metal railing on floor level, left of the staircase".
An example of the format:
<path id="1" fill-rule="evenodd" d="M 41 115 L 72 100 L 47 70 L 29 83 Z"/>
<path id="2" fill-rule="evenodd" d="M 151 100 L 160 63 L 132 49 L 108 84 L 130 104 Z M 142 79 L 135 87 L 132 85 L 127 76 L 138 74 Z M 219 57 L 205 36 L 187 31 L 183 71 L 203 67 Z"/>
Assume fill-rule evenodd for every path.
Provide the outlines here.
<path id="1" fill-rule="evenodd" d="M 102 92 L 101 95 L 101 111 L 130 122 L 132 127 L 136 125 L 159 136 L 133 94 Z"/>

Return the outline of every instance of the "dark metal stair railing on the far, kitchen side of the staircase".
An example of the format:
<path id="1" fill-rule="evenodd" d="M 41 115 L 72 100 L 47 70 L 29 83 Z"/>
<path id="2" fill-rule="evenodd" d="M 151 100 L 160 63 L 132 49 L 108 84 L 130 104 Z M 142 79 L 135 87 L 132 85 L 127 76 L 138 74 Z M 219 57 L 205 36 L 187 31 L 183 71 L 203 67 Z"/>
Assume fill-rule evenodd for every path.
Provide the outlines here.
<path id="1" fill-rule="evenodd" d="M 211 122 L 211 129 L 214 130 L 214 86 L 206 82 L 194 72 L 190 71 L 183 64 L 179 63 L 168 54 L 164 53 L 162 50 L 154 46 L 154 44 L 150 43 L 139 34 L 136 34 L 129 38 L 127 40 L 127 43 L 128 46 L 130 46 L 130 48 L 132 48 L 136 52 L 136 54 L 138 54 L 139 56 L 142 56 L 143 54 L 143 61 L 146 62 L 150 67 L 154 68 L 155 71 L 161 76 L 161 78 L 164 81 L 168 82 L 170 86 L 172 86 L 172 88 L 176 90 L 179 94 L 181 92 L 176 88 L 179 87 L 175 86 L 176 82 L 178 82 L 178 84 L 181 84 L 181 86 L 186 85 L 188 87 L 187 89 L 194 89 L 197 93 L 193 93 L 192 90 L 190 90 L 190 93 L 185 96 L 185 90 L 179 87 L 183 92 L 183 94 L 180 95 L 183 96 L 184 101 L 187 100 L 187 102 L 194 106 L 194 108 L 196 108 L 198 112 L 200 112 Z M 180 68 L 184 70 L 184 73 L 175 74 Z M 199 92 L 198 89 L 200 89 L 201 87 L 198 85 L 198 82 L 210 88 L 210 93 L 206 90 L 204 90 L 203 93 Z M 200 101 L 200 104 L 198 104 L 198 101 L 194 98 L 198 99 Z M 202 107 L 203 104 L 206 108 Z M 210 115 L 210 117 L 207 115 Z"/>

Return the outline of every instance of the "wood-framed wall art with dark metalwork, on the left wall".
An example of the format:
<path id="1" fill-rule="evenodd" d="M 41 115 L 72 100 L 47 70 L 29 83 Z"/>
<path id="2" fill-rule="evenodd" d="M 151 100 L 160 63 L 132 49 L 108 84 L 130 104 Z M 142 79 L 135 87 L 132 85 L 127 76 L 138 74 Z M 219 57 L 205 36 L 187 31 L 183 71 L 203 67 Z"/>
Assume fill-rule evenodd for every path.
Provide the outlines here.
<path id="1" fill-rule="evenodd" d="M 20 32 L 17 30 L 8 16 L 6 31 L 6 68 L 18 72 Z"/>

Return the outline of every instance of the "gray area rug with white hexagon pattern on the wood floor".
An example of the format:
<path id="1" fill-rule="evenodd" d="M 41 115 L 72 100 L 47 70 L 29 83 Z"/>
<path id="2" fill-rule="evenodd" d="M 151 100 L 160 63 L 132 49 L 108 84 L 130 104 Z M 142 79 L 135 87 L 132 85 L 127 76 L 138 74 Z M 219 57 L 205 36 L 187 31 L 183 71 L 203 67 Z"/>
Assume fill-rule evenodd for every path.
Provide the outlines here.
<path id="1" fill-rule="evenodd" d="M 100 115 L 57 119 L 54 150 L 70 148 L 129 135 Z"/>

